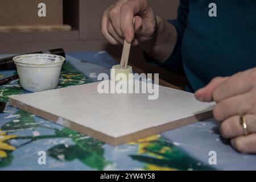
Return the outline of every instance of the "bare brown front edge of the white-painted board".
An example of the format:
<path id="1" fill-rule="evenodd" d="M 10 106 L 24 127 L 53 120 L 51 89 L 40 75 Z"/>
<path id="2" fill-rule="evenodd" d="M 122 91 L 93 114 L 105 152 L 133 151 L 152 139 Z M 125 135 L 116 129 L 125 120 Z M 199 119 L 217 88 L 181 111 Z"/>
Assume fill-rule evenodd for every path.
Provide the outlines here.
<path id="1" fill-rule="evenodd" d="M 101 133 L 100 131 L 90 129 L 89 127 L 85 127 L 85 126 L 79 125 L 78 123 L 69 121 L 65 118 L 61 118 L 57 115 L 47 113 L 46 111 L 43 111 L 40 109 L 35 109 L 34 107 L 32 107 L 30 105 L 23 104 L 19 101 L 16 101 L 15 99 L 13 99 L 11 97 L 9 98 L 9 104 L 18 109 L 27 111 L 28 113 L 38 115 L 39 117 L 42 117 L 44 119 L 48 119 L 49 121 L 55 122 L 64 127 L 69 127 L 72 130 L 75 130 L 82 134 L 88 135 L 89 137 L 92 137 L 92 138 L 98 139 L 102 142 L 111 144 L 112 146 L 118 146 L 121 144 L 134 142 L 138 139 L 150 137 L 152 135 L 160 134 L 165 131 L 174 130 L 174 129 L 177 129 L 182 126 L 190 125 L 192 123 L 213 117 L 212 110 L 209 110 L 209 111 L 205 111 L 203 113 L 193 115 L 191 117 L 164 123 L 163 125 L 159 125 L 156 127 L 150 127 L 148 129 L 140 130 L 140 131 L 137 131 L 137 132 L 129 134 L 129 135 L 124 135 L 122 137 L 114 138 L 114 137 L 111 137 L 104 133 Z"/>

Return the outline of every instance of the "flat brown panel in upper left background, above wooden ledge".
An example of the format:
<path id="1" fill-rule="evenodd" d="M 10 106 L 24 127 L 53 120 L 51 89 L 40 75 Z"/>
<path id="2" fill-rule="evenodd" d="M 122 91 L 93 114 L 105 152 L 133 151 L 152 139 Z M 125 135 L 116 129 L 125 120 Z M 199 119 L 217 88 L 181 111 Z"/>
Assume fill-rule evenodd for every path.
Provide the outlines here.
<path id="1" fill-rule="evenodd" d="M 47 5 L 47 17 L 41 18 L 37 16 L 39 3 Z M 62 0 L 0 1 L 0 26 L 55 25 L 62 23 Z"/>

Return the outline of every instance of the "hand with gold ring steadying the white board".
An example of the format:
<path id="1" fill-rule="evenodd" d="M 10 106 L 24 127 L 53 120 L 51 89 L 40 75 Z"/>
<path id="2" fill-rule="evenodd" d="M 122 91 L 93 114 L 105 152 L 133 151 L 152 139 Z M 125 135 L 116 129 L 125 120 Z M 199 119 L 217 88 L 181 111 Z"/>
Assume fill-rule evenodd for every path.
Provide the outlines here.
<path id="1" fill-rule="evenodd" d="M 213 116 L 221 122 L 221 135 L 231 139 L 237 151 L 256 153 L 256 68 L 230 77 L 216 77 L 197 90 L 195 97 L 216 102 Z M 242 119 L 247 129 L 241 125 Z"/>

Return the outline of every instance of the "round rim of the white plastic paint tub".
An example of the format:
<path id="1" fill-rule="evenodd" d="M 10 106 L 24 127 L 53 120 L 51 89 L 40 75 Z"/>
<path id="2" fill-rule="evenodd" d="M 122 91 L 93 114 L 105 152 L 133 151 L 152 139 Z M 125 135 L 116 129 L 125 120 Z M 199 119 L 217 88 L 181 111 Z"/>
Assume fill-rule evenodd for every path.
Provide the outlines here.
<path id="1" fill-rule="evenodd" d="M 56 63 L 43 63 L 43 64 L 36 64 L 36 63 L 26 63 L 22 62 L 24 59 L 34 59 L 34 58 L 42 58 L 42 59 L 52 59 L 52 60 L 57 60 Z M 14 63 L 19 63 L 19 64 L 25 64 L 25 65 L 55 65 L 55 64 L 60 64 L 65 61 L 65 57 L 59 56 L 59 55 L 53 55 L 53 54 L 48 54 L 48 53 L 31 53 L 31 54 L 26 54 L 26 55 L 19 55 L 13 57 Z"/>

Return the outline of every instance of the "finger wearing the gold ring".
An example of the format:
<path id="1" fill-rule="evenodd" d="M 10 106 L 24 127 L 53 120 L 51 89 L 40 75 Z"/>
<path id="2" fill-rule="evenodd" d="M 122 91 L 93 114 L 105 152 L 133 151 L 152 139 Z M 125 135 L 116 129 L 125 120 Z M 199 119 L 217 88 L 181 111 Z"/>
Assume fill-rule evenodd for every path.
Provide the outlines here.
<path id="1" fill-rule="evenodd" d="M 247 130 L 250 133 L 256 133 L 256 115 L 245 115 L 245 121 Z M 241 125 L 240 116 L 236 115 L 226 119 L 221 123 L 220 133 L 224 138 L 239 137 L 244 134 L 243 127 Z"/>

